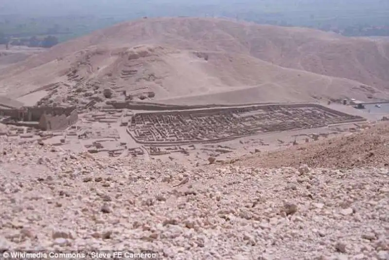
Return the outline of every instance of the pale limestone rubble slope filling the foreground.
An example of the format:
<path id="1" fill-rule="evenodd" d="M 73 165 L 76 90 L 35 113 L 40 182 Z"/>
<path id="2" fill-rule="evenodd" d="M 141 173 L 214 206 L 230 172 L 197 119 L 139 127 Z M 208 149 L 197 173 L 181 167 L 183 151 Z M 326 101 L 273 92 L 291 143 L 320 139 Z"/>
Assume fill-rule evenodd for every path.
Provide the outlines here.
<path id="1" fill-rule="evenodd" d="M 161 259 L 389 259 L 387 168 L 99 159 L 3 144 L 0 250 L 148 249 Z"/>

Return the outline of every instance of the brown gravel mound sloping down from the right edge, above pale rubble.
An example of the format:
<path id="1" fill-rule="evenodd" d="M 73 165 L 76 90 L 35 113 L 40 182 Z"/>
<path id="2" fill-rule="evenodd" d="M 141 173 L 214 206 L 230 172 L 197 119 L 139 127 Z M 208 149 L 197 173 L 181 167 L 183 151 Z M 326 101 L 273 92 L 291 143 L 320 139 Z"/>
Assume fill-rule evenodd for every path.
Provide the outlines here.
<path id="1" fill-rule="evenodd" d="M 332 168 L 388 167 L 388 144 L 389 123 L 383 122 L 347 136 L 247 156 L 236 164 L 247 167 L 298 167 L 301 164 Z"/>

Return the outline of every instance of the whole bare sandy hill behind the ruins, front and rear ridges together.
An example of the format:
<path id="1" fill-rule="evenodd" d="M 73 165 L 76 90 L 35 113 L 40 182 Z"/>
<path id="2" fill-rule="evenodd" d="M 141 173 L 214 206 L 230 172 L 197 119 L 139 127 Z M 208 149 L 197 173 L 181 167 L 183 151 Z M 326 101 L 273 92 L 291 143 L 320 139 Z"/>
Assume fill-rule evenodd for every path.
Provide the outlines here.
<path id="1" fill-rule="evenodd" d="M 0 69 L 0 91 L 18 98 L 58 82 L 53 97 L 58 102 L 104 88 L 118 95 L 154 92 L 155 100 L 166 103 L 389 98 L 388 57 L 388 42 L 311 29 L 226 19 L 140 19 Z"/>

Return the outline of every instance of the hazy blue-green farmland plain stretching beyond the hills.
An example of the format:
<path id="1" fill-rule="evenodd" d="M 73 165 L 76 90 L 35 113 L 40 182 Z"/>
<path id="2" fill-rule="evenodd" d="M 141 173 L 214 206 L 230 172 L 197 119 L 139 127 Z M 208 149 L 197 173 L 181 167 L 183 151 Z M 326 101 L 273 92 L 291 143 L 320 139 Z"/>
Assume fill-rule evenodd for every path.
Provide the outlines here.
<path id="1" fill-rule="evenodd" d="M 387 0 L 15 0 L 0 4 L 0 44 L 51 47 L 144 16 L 229 17 L 346 36 L 389 36 Z"/>

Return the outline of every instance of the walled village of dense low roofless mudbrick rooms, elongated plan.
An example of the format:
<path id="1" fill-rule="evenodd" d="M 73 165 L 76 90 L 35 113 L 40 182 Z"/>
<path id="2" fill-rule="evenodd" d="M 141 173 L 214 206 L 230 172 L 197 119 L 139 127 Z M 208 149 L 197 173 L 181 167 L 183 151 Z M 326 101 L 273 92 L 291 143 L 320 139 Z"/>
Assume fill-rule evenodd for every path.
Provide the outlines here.
<path id="1" fill-rule="evenodd" d="M 221 142 L 253 134 L 363 121 L 318 104 L 279 104 L 137 113 L 128 132 L 141 144 Z"/>

